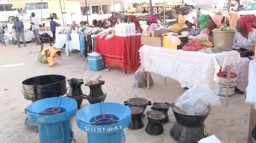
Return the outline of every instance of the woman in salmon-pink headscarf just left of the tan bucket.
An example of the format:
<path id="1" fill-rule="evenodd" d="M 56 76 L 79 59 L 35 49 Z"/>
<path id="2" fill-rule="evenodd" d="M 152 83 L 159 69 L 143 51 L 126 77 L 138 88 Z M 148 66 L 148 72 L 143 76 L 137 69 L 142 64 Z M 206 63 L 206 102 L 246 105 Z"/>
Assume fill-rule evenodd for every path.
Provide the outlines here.
<path id="1" fill-rule="evenodd" d="M 220 28 L 225 18 L 222 15 L 213 15 L 207 20 L 207 28 L 200 32 L 201 34 L 205 34 L 208 36 L 209 41 L 213 42 L 213 32 L 212 30 L 215 28 Z"/>

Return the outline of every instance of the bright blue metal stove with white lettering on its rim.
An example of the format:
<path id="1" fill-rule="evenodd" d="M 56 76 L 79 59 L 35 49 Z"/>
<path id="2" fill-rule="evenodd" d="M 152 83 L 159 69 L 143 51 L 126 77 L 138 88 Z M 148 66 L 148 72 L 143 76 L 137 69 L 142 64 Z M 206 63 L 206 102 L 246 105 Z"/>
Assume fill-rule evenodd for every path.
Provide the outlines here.
<path id="1" fill-rule="evenodd" d="M 79 129 L 87 132 L 88 143 L 124 143 L 131 123 L 131 110 L 119 103 L 95 103 L 76 114 Z"/>

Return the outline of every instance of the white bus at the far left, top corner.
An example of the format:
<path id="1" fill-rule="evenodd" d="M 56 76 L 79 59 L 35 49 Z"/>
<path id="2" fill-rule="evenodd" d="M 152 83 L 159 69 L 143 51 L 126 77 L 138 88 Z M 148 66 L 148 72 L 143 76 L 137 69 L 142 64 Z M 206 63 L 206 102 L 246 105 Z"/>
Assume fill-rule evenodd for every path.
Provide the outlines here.
<path id="1" fill-rule="evenodd" d="M 0 2 L 0 22 L 14 23 L 15 17 L 18 16 L 20 20 L 23 19 L 22 9 L 16 9 L 12 3 Z"/>

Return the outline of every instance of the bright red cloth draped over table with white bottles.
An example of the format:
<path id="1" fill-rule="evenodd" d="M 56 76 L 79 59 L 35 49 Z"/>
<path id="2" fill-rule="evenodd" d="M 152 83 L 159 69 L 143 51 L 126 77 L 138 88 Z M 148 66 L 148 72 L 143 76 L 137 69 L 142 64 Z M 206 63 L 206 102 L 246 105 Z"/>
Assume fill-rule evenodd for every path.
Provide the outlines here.
<path id="1" fill-rule="evenodd" d="M 102 54 L 103 62 L 108 66 L 119 67 L 128 72 L 135 72 L 140 67 L 140 35 L 119 37 L 105 40 L 105 36 L 96 40 L 95 51 Z"/>

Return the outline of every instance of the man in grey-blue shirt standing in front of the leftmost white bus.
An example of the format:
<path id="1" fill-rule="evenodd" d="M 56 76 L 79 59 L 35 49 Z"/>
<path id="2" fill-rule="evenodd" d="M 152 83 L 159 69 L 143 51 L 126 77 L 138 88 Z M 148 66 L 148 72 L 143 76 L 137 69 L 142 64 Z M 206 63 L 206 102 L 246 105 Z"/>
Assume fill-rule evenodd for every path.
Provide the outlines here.
<path id="1" fill-rule="evenodd" d="M 24 47 L 26 47 L 26 41 L 24 36 L 24 25 L 21 20 L 19 20 L 19 17 L 16 16 L 16 20 L 14 21 L 15 26 L 15 36 L 17 39 L 18 48 L 20 48 L 20 37 L 22 39 L 22 43 Z"/>

